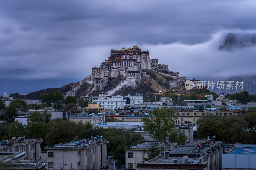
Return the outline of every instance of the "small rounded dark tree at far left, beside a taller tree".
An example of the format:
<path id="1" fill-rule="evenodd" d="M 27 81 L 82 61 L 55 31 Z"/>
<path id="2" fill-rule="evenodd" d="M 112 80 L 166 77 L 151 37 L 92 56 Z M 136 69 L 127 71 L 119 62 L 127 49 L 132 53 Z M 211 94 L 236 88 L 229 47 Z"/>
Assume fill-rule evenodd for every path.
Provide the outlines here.
<path id="1" fill-rule="evenodd" d="M 9 129 L 9 137 L 22 137 L 26 135 L 25 126 L 19 121 L 14 121 Z"/>

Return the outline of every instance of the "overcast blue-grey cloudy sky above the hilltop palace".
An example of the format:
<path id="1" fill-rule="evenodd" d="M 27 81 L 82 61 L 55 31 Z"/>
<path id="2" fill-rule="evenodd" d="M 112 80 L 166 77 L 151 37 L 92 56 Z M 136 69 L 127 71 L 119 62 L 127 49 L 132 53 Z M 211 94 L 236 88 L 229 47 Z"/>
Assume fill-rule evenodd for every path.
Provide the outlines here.
<path id="1" fill-rule="evenodd" d="M 252 40 L 255 9 L 255 0 L 1 1 L 0 69 L 82 80 L 111 49 L 135 44 L 183 77 L 256 74 L 256 48 L 217 50 L 228 33 Z"/>

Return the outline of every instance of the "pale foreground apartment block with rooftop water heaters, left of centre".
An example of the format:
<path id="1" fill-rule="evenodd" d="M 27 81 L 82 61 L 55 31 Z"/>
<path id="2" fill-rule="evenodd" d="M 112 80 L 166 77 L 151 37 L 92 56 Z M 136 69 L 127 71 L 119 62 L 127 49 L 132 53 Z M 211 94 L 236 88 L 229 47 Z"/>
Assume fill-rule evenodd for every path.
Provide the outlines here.
<path id="1" fill-rule="evenodd" d="M 105 169 L 107 143 L 106 140 L 90 140 L 47 146 L 47 169 Z"/>

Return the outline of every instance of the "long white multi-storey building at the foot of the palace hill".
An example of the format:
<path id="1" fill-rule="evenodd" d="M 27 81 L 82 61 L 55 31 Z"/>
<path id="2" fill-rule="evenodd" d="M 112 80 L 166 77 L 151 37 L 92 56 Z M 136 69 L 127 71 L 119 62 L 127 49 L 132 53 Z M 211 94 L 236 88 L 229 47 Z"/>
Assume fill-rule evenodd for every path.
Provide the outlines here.
<path id="1" fill-rule="evenodd" d="M 138 96 L 107 96 L 107 97 L 92 97 L 92 102 L 100 104 L 102 107 L 107 109 L 123 109 L 124 106 L 130 105 L 133 107 L 135 104 L 143 102 L 142 95 Z"/>

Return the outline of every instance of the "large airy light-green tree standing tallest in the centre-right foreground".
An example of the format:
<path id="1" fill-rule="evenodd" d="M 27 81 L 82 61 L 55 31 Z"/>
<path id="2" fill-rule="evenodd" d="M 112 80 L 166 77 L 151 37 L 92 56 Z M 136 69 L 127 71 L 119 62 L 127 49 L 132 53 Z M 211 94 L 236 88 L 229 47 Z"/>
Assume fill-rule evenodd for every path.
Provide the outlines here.
<path id="1" fill-rule="evenodd" d="M 170 120 L 172 118 L 172 120 Z M 175 129 L 175 121 L 177 116 L 175 110 L 168 107 L 161 107 L 160 110 L 154 109 L 147 117 L 143 117 L 142 121 L 145 126 L 144 129 L 154 140 L 162 140 L 165 137 L 171 139 L 171 133 Z M 172 140 L 172 139 L 171 139 Z"/>

